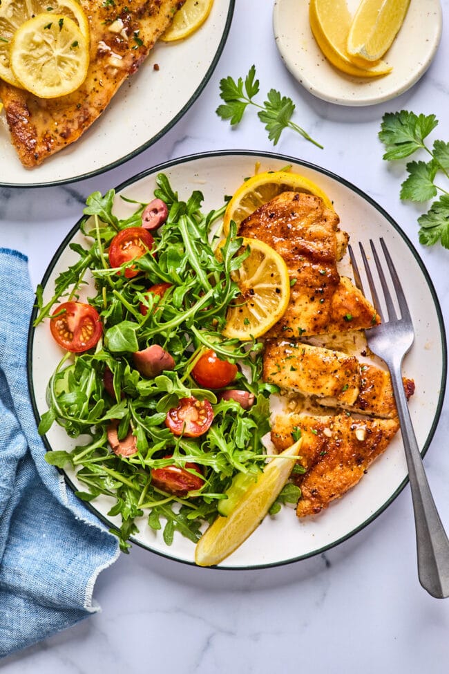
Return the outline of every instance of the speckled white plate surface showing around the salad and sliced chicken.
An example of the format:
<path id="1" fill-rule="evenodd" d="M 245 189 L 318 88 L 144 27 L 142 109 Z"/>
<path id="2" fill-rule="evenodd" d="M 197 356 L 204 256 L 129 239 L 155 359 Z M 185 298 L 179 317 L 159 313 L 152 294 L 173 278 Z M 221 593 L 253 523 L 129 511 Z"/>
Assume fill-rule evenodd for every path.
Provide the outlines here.
<path id="1" fill-rule="evenodd" d="M 410 302 L 416 338 L 405 358 L 404 371 L 416 382 L 416 393 L 410 401 L 410 412 L 417 432 L 419 447 L 424 452 L 434 433 L 446 384 L 446 342 L 443 321 L 437 297 L 426 269 L 412 244 L 398 225 L 359 189 L 324 169 L 289 157 L 250 152 L 227 151 L 182 158 L 150 169 L 117 188 L 118 194 L 137 201 L 150 200 L 155 187 L 155 176 L 164 171 L 180 198 L 187 198 L 193 189 L 204 194 L 204 212 L 222 204 L 225 194 L 232 194 L 242 180 L 254 173 L 256 162 L 260 170 L 276 170 L 292 164 L 294 170 L 318 183 L 334 202 L 341 218 L 341 226 L 350 233 L 352 241 L 367 243 L 370 237 L 383 236 L 392 258 L 397 263 L 405 294 Z M 124 218 L 131 214 L 133 205 L 116 199 L 116 213 Z M 61 244 L 45 274 L 44 301 L 52 297 L 55 278 L 77 256 L 69 249 L 70 241 L 81 241 L 75 225 Z M 61 357 L 61 351 L 50 337 L 48 324 L 40 324 L 30 331 L 29 377 L 35 413 L 39 417 L 47 409 L 46 384 L 49 373 Z M 45 438 L 48 449 L 68 449 L 70 440 L 56 425 Z M 68 474 L 70 483 L 73 475 Z M 298 521 L 293 509 L 283 508 L 273 518 L 267 517 L 258 530 L 228 559 L 222 568 L 258 568 L 278 565 L 317 554 L 347 539 L 372 521 L 405 485 L 407 469 L 401 437 L 398 434 L 388 450 L 370 467 L 361 483 L 338 502 L 318 516 Z M 81 487 L 82 488 L 82 487 Z M 106 499 L 95 501 L 95 512 L 108 521 L 111 507 Z M 410 505 L 411 507 L 411 505 Z M 194 545 L 181 535 L 175 535 L 171 547 L 162 541 L 145 521 L 140 523 L 140 534 L 135 543 L 169 556 L 193 563 Z"/>

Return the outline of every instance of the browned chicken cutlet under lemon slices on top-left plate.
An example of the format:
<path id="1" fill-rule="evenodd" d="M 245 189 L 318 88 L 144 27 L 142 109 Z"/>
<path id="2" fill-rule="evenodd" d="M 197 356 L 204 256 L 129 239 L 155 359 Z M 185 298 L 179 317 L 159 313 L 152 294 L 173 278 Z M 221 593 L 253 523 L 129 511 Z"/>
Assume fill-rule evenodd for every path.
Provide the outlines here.
<path id="1" fill-rule="evenodd" d="M 184 0 L 80 2 L 90 28 L 90 66 L 82 86 L 66 96 L 44 100 L 0 80 L 12 143 L 26 167 L 39 165 L 95 122 L 121 84 L 144 62 Z"/>

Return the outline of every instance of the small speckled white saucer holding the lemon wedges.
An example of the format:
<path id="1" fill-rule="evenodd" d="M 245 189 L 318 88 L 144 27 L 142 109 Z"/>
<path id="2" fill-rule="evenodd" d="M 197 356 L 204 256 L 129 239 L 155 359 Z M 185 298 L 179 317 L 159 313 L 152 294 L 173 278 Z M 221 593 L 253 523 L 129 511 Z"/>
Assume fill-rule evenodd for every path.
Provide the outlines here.
<path id="1" fill-rule="evenodd" d="M 359 0 L 348 0 L 353 12 Z M 397 38 L 385 55 L 393 70 L 361 79 L 341 73 L 325 58 L 309 25 L 308 0 L 276 0 L 274 37 L 292 75 L 318 98 L 340 105 L 372 105 L 407 91 L 426 72 L 441 38 L 439 0 L 412 0 Z"/>

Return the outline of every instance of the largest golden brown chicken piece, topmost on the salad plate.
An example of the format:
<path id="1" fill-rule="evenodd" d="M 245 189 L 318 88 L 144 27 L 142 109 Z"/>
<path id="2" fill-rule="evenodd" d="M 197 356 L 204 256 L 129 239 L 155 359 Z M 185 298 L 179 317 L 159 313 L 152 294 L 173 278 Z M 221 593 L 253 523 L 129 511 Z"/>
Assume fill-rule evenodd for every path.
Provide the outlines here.
<path id="1" fill-rule="evenodd" d="M 240 225 L 240 236 L 265 241 L 278 252 L 292 283 L 287 311 L 266 337 L 369 328 L 379 323 L 372 304 L 337 270 L 339 218 L 312 194 L 286 191 Z"/>

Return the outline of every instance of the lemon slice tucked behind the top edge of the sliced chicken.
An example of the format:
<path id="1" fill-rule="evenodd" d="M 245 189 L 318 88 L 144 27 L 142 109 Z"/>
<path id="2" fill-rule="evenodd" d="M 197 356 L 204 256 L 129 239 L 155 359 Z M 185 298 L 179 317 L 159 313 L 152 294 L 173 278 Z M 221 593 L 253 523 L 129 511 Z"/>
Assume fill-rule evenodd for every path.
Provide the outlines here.
<path id="1" fill-rule="evenodd" d="M 256 208 L 267 203 L 281 192 L 307 192 L 320 196 L 328 208 L 332 201 L 312 180 L 290 171 L 265 171 L 246 180 L 233 195 L 223 217 L 223 231 L 229 232 L 229 223 L 235 221 L 237 229 Z"/>

